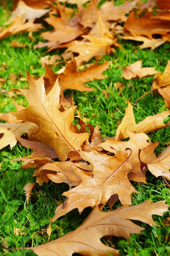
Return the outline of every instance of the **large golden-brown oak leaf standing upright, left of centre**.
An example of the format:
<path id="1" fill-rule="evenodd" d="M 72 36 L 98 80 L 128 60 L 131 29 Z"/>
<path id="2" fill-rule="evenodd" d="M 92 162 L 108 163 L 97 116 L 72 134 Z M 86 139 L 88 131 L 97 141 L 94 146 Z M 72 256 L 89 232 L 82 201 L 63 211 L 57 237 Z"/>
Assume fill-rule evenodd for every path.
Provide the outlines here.
<path id="1" fill-rule="evenodd" d="M 12 112 L 18 119 L 37 124 L 40 131 L 35 136 L 41 143 L 54 148 L 61 161 L 66 160 L 71 150 L 80 150 L 88 138 L 88 133 L 75 133 L 70 130 L 74 120 L 75 106 L 60 112 L 60 86 L 56 81 L 48 95 L 45 93 L 41 76 L 35 81 L 28 74 L 29 90 L 21 90 L 29 103 L 29 108 Z"/>

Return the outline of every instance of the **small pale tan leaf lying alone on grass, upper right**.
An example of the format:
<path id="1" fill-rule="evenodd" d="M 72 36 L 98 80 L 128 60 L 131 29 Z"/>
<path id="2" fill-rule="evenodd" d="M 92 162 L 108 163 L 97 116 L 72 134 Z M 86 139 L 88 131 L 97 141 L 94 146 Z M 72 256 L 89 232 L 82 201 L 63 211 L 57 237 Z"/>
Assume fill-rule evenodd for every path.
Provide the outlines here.
<path id="1" fill-rule="evenodd" d="M 134 78 L 143 78 L 146 76 L 152 76 L 153 74 L 157 74 L 157 71 L 154 67 L 142 67 L 142 60 L 136 61 L 135 63 L 124 67 L 123 78 L 125 79 L 134 79 Z"/>

